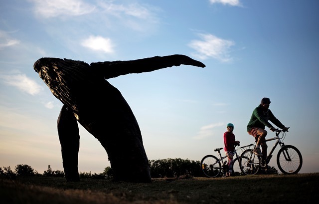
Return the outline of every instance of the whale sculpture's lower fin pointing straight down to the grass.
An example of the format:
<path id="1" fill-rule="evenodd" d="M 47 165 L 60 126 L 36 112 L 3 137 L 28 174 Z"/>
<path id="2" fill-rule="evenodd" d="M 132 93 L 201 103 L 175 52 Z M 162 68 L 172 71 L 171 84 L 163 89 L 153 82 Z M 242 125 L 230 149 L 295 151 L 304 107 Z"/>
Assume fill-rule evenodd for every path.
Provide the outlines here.
<path id="1" fill-rule="evenodd" d="M 80 148 L 79 127 L 73 111 L 66 105 L 61 109 L 57 127 L 66 181 L 80 181 L 78 171 L 78 154 Z"/>

